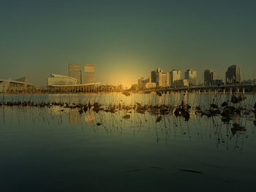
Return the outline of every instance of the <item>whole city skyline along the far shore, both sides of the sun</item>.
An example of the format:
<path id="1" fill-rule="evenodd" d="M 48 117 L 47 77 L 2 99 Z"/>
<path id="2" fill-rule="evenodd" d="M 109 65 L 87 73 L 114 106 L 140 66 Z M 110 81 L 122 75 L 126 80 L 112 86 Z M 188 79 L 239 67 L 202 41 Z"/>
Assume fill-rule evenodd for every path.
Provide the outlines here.
<path id="1" fill-rule="evenodd" d="M 63 74 L 50 74 L 51 77 L 47 77 L 47 85 L 45 86 L 56 86 L 56 85 L 111 85 L 111 83 L 105 84 L 96 82 L 95 79 L 95 65 L 84 64 L 83 70 L 81 70 L 81 64 L 68 64 L 68 75 Z M 219 77 L 219 76 L 217 76 Z M 70 81 L 72 79 L 72 82 Z M 80 81 L 78 81 L 80 80 Z M 184 80 L 187 80 L 184 84 Z M 172 86 L 211 86 L 211 85 L 234 85 L 234 84 L 250 84 L 250 82 L 256 79 L 241 80 L 240 66 L 232 65 L 227 68 L 225 72 L 225 80 L 216 79 L 216 73 L 212 69 L 205 69 L 203 72 L 203 82 L 198 82 L 197 71 L 194 69 L 187 69 L 184 75 L 181 75 L 181 70 L 172 69 L 170 72 L 164 72 L 162 69 L 157 67 L 157 70 L 151 71 L 149 77 L 141 77 L 138 83 L 135 84 L 146 85 L 146 87 L 172 87 Z M 13 81 L 12 78 L 6 79 L 6 81 Z M 17 82 L 29 82 L 29 77 L 21 77 Z M 83 83 L 81 83 L 83 82 Z M 149 83 L 149 84 L 148 84 Z M 155 83 L 155 84 L 151 84 Z M 177 84 L 178 83 L 178 84 Z M 112 84 L 113 85 L 113 84 Z M 121 83 L 117 85 L 122 85 Z M 44 86 L 44 87 L 45 87 Z M 123 85 L 124 86 L 124 85 Z M 37 87 L 37 85 L 36 85 Z M 128 88 L 128 87 L 126 87 Z"/>

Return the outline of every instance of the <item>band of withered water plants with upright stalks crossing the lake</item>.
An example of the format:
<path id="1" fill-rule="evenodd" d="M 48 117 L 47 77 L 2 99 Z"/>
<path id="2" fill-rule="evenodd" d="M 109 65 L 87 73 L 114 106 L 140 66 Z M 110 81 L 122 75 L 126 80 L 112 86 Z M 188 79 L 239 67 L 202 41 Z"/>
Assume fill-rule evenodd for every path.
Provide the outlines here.
<path id="1" fill-rule="evenodd" d="M 50 95 L 50 94 L 49 94 Z M 163 101 L 162 103 L 155 103 L 157 99 L 164 99 L 165 95 L 156 92 L 153 98 L 148 101 L 147 104 L 143 104 L 140 101 L 135 100 L 133 97 L 132 102 L 125 103 L 123 100 L 118 100 L 112 95 L 112 98 L 108 99 L 108 104 L 104 100 L 101 100 L 102 94 L 99 94 L 98 98 L 93 97 L 92 94 L 89 94 L 89 97 L 86 100 L 82 100 L 82 97 L 77 98 L 77 101 L 72 101 L 70 98 L 64 100 L 63 96 L 70 96 L 70 94 L 56 94 L 59 98 L 59 101 L 53 101 L 48 98 L 41 98 L 40 100 L 35 100 L 33 94 L 29 97 L 24 97 L 24 95 L 19 96 L 18 98 L 9 97 L 5 99 L 3 94 L 2 101 L 0 101 L 0 107 L 39 107 L 39 108 L 50 108 L 53 106 L 61 107 L 61 110 L 64 109 L 77 109 L 80 114 L 87 112 L 88 110 L 93 110 L 94 112 L 111 112 L 116 113 L 119 111 L 126 112 L 137 112 L 144 114 L 148 112 L 149 114 L 159 115 L 159 120 L 162 119 L 162 115 L 175 115 L 176 117 L 180 116 L 184 120 L 189 120 L 193 114 L 198 114 L 200 117 L 206 116 L 207 118 L 214 118 L 215 116 L 221 116 L 222 122 L 226 123 L 236 118 L 237 116 L 255 116 L 256 123 L 256 101 L 255 95 L 252 95 L 249 99 L 249 104 L 246 104 L 244 101 L 247 99 L 244 94 L 232 94 L 228 95 L 230 98 L 225 98 L 223 101 L 221 93 L 214 95 L 214 99 L 209 100 L 207 105 L 188 104 L 187 96 L 189 94 L 183 93 L 180 94 L 180 98 L 176 104 L 172 104 L 170 101 Z M 119 94 L 124 96 L 124 99 L 130 98 L 131 93 L 124 92 Z M 81 94 L 82 96 L 82 94 Z M 129 118 L 129 116 L 126 116 Z"/>

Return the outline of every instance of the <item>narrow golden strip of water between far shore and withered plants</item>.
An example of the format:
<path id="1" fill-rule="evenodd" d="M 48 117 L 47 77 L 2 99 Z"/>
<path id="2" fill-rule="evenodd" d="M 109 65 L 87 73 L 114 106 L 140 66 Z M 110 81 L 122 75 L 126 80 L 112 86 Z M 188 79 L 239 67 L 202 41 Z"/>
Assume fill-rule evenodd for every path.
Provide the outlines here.
<path id="1" fill-rule="evenodd" d="M 85 93 L 65 93 L 65 94 L 7 94 L 4 96 L 4 101 L 33 101 L 34 103 L 42 102 L 62 102 L 62 103 L 89 103 L 98 102 L 100 104 L 125 104 L 125 105 L 134 105 L 136 102 L 140 104 L 171 104 L 178 105 L 181 104 L 181 101 L 186 101 L 187 104 L 195 107 L 210 107 L 212 103 L 221 104 L 223 101 L 231 101 L 230 94 L 162 94 L 161 97 L 156 94 L 132 94 L 131 96 L 124 96 L 121 93 L 113 94 L 85 94 Z M 255 94 L 247 94 L 247 99 L 241 102 L 242 106 L 250 107 L 252 104 L 255 104 L 256 98 Z M 2 97 L 0 102 L 2 102 Z"/>

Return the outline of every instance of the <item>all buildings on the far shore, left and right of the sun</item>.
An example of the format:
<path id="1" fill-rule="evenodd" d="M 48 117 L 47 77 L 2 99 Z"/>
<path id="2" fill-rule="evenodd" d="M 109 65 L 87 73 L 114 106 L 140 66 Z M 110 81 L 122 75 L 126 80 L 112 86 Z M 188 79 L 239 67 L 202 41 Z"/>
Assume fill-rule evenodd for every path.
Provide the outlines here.
<path id="1" fill-rule="evenodd" d="M 99 85 L 95 82 L 95 66 L 93 64 L 83 65 L 68 64 L 68 75 L 50 74 L 47 78 L 47 88 L 44 91 L 64 92 L 64 93 L 94 93 L 98 91 L 118 92 L 123 91 L 121 85 Z M 188 88 L 192 86 L 217 86 L 217 85 L 256 85 L 255 80 L 241 81 L 240 66 L 232 65 L 225 72 L 225 82 L 216 78 L 216 73 L 212 69 L 206 69 L 203 74 L 203 84 L 197 82 L 197 72 L 194 69 L 187 69 L 181 77 L 181 71 L 173 69 L 170 72 L 163 72 L 159 67 L 151 71 L 149 78 L 141 77 L 138 84 L 133 85 L 135 90 L 145 90 L 151 88 Z M 1 80 L 0 92 L 26 92 L 37 91 L 34 85 L 29 83 L 28 77 L 18 80 Z"/>

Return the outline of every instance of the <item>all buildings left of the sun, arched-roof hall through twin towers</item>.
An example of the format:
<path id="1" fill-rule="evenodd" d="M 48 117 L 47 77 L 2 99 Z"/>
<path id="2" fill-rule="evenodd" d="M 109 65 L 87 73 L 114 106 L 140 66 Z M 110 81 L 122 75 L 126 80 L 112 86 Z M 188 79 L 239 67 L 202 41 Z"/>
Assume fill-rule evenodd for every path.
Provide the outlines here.
<path id="1" fill-rule="evenodd" d="M 44 91 L 56 92 L 93 92 L 96 91 L 95 82 L 95 66 L 91 64 L 83 65 L 81 70 L 80 64 L 68 64 L 68 76 L 61 74 L 50 74 L 47 78 L 47 88 Z M 18 80 L 0 79 L 0 92 L 19 93 L 19 92 L 35 92 L 37 88 L 29 83 L 28 77 L 22 77 Z"/>

